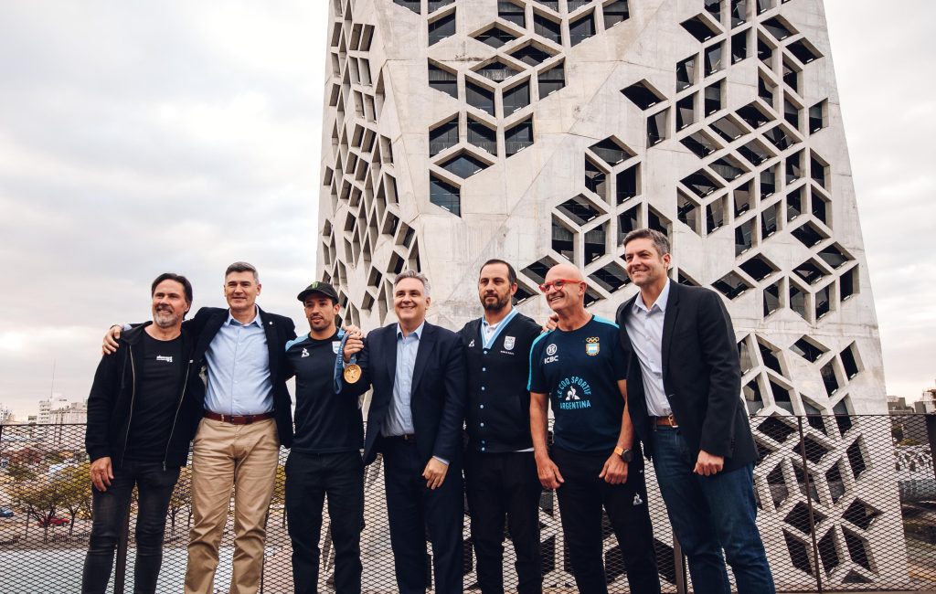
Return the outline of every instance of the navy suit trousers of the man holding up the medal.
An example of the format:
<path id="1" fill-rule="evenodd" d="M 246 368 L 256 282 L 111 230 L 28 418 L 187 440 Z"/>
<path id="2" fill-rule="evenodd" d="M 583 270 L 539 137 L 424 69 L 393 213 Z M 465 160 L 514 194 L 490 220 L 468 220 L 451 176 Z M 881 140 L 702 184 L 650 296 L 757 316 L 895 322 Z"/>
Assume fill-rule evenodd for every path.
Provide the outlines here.
<path id="1" fill-rule="evenodd" d="M 384 487 L 393 566 L 402 594 L 424 594 L 429 574 L 426 533 L 432 543 L 435 591 L 462 591 L 464 544 L 464 489 L 461 467 L 449 464 L 446 480 L 436 489 L 426 486 L 422 472 L 428 460 L 417 452 L 416 442 L 384 438 Z"/>

